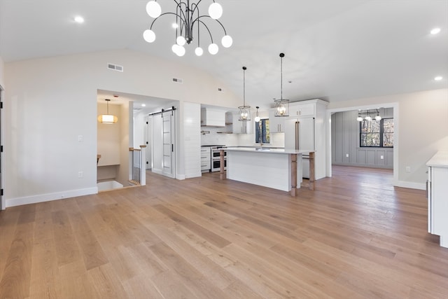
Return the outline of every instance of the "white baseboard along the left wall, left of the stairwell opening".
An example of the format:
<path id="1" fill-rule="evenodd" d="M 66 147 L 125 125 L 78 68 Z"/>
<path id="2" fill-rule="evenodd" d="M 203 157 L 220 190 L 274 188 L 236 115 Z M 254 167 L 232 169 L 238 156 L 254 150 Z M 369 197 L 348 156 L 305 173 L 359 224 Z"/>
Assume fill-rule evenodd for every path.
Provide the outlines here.
<path id="1" fill-rule="evenodd" d="M 36 204 L 38 202 L 50 202 L 51 200 L 62 200 L 65 198 L 78 197 L 97 193 L 98 193 L 98 187 L 93 187 L 78 190 L 68 190 L 57 193 L 9 198 L 6 200 L 6 207 L 8 208 L 8 207 L 21 206 L 23 204 Z"/>

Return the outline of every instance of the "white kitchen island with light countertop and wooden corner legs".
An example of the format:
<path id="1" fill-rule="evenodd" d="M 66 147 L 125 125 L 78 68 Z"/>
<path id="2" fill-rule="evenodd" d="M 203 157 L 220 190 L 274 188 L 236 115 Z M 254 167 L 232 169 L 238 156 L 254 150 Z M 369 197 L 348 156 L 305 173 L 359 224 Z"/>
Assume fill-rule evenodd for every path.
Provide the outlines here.
<path id="1" fill-rule="evenodd" d="M 310 189 L 314 188 L 314 163 L 311 156 L 314 152 L 288 150 L 284 148 L 253 148 L 229 147 L 221 150 L 221 157 L 227 153 L 227 167 L 224 173 L 221 168 L 221 178 L 259 186 L 295 191 L 302 183 L 302 154 L 310 154 L 310 169 L 313 168 L 313 178 L 310 177 Z"/>

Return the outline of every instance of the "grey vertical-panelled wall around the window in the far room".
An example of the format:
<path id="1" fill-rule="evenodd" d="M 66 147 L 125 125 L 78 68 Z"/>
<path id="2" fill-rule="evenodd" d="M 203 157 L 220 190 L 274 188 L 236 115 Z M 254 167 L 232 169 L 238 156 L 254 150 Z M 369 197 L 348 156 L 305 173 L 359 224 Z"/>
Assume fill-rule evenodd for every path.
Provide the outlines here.
<path id="1" fill-rule="evenodd" d="M 382 118 L 393 118 L 393 108 L 379 109 L 379 114 Z M 392 169 L 393 148 L 361 148 L 359 146 L 357 116 L 356 110 L 332 114 L 332 164 Z"/>

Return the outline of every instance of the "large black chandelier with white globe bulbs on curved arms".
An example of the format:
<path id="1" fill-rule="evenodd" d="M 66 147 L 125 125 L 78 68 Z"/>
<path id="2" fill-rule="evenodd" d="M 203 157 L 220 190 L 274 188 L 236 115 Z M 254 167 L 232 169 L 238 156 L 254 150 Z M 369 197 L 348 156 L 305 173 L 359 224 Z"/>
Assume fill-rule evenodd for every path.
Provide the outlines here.
<path id="1" fill-rule="evenodd" d="M 155 18 L 151 23 L 150 29 L 146 29 L 143 33 L 145 41 L 148 43 L 152 43 L 155 41 L 155 33 L 153 32 L 153 25 L 155 21 L 159 20 L 163 15 L 174 15 L 176 17 L 176 22 L 173 27 L 176 29 L 176 42 L 172 46 L 172 51 L 178 55 L 183 56 L 186 53 L 185 48 L 183 47 L 186 43 L 190 44 L 193 41 L 193 32 L 197 32 L 197 48 L 195 49 L 195 54 L 197 56 L 201 56 L 204 53 L 200 46 L 200 25 L 209 32 L 211 43 L 209 44 L 209 53 L 211 55 L 215 55 L 218 53 L 218 45 L 214 43 L 213 36 L 211 36 L 211 32 L 209 27 L 206 25 L 205 20 L 211 18 L 215 20 L 218 25 L 223 28 L 224 36 L 221 39 L 221 44 L 224 48 L 229 48 L 232 46 L 233 40 L 230 35 L 227 34 L 223 24 L 218 20 L 223 15 L 223 7 L 221 4 L 218 4 L 213 0 L 213 3 L 209 6 L 209 15 L 201 15 L 199 4 L 202 0 L 199 1 L 190 1 L 190 0 L 174 0 L 176 3 L 176 12 L 172 13 L 162 13 L 162 8 L 158 4 L 158 2 L 151 0 L 146 4 L 146 12 L 151 18 Z"/>

